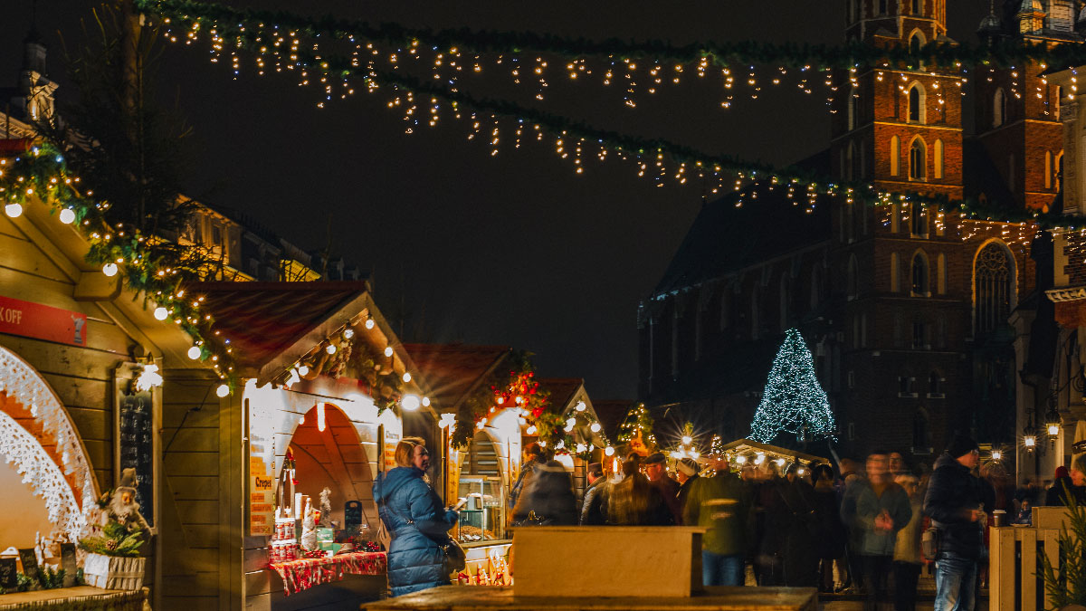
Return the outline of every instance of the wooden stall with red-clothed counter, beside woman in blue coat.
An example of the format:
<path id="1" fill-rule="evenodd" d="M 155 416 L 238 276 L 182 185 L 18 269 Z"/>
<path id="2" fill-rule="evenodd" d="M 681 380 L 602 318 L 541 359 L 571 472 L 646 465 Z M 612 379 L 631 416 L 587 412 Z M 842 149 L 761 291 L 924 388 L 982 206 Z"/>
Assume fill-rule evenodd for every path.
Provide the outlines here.
<path id="1" fill-rule="evenodd" d="M 200 283 L 189 290 L 230 339 L 244 381 L 222 399 L 218 420 L 232 446 L 217 461 L 219 478 L 233 482 L 219 498 L 230 510 L 217 531 L 228 548 L 218 561 L 227 564 L 220 579 L 229 608 L 286 611 L 379 597 L 387 560 L 372 484 L 394 466 L 404 414 L 429 413 L 420 422 L 434 429 L 435 419 L 368 285 Z"/>

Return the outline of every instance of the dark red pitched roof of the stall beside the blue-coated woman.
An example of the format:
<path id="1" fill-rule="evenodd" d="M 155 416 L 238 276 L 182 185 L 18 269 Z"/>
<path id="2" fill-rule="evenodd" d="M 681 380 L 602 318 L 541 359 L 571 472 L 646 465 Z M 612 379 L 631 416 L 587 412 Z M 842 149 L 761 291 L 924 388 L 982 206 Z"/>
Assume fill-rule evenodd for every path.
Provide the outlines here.
<path id="1" fill-rule="evenodd" d="M 311 334 L 341 326 L 365 309 L 369 284 L 204 282 L 188 285 L 188 291 L 204 298 L 215 329 L 233 347 L 239 373 L 263 383 L 281 357 L 300 357 L 324 338 Z"/>

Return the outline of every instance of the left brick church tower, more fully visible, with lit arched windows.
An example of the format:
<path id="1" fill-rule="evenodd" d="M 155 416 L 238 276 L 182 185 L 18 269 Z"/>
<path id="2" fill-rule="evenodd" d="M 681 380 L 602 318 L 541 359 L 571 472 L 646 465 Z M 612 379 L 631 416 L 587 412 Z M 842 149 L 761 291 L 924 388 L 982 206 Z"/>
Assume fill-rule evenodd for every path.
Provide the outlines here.
<path id="1" fill-rule="evenodd" d="M 848 2 L 849 40 L 954 42 L 945 0 Z M 990 171 L 980 147 L 963 138 L 964 86 L 957 71 L 924 66 L 836 73 L 834 174 L 883 191 L 963 197 L 980 170 Z M 1032 232 L 963 221 L 915 197 L 877 208 L 838 201 L 835 209 L 833 259 L 845 278 L 845 383 L 835 406 L 842 440 L 851 438 L 860 453 L 892 447 L 918 460 L 959 431 L 1009 442 L 1009 434 L 996 433 L 1014 423 L 1007 320 L 1032 291 L 1022 236 Z M 1008 438 L 993 438 L 1000 436 Z"/>

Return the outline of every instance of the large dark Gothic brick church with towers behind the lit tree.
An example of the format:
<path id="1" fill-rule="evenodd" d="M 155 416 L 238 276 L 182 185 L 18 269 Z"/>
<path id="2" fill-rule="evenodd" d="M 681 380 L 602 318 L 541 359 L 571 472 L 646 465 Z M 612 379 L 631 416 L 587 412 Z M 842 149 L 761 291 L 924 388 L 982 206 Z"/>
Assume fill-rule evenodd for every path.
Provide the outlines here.
<path id="1" fill-rule="evenodd" d="M 847 2 L 847 40 L 954 43 L 946 0 Z M 1082 43 L 1075 9 L 997 0 L 977 34 Z M 1040 66 L 867 66 L 836 72 L 832 87 L 828 150 L 799 165 L 882 191 L 1059 205 L 1061 91 Z M 725 439 L 747 436 L 784 332 L 797 327 L 845 454 L 879 447 L 931 462 L 956 432 L 1015 445 L 1015 406 L 1047 397 L 1035 388 L 1045 359 L 1028 345 L 1044 298 L 1036 226 L 963 220 L 923 197 L 877 207 L 822 197 L 808 211 L 762 189 L 736 207 L 753 195 L 707 202 L 641 303 L 647 406 Z"/>

